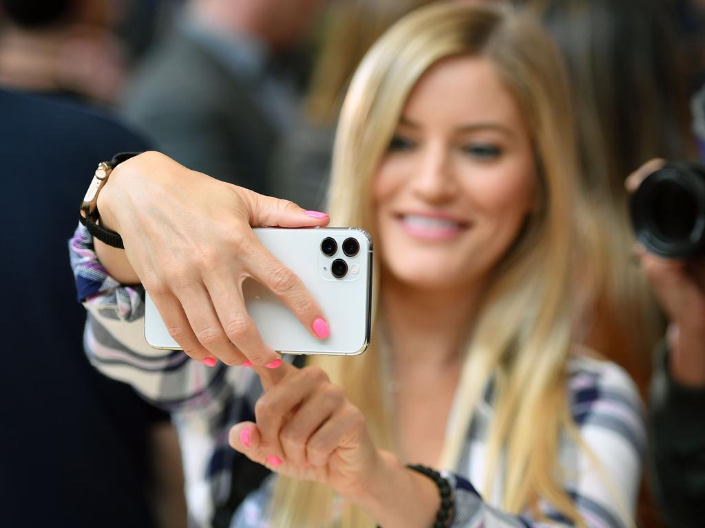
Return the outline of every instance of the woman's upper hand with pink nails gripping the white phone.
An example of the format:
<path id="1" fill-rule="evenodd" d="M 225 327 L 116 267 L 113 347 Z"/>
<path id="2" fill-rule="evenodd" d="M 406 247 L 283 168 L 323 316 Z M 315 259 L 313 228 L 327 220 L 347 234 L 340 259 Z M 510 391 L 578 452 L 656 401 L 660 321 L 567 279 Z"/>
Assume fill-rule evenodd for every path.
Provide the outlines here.
<path id="1" fill-rule="evenodd" d="M 145 286 L 169 333 L 192 358 L 207 365 L 214 358 L 227 365 L 281 363 L 245 310 L 247 277 L 274 291 L 316 335 L 321 309 L 250 226 L 322 227 L 328 215 L 220 182 L 156 152 L 118 165 L 99 194 L 98 210 L 101 224 L 125 244 L 123 252 L 96 243 L 101 263 L 121 282 Z"/>

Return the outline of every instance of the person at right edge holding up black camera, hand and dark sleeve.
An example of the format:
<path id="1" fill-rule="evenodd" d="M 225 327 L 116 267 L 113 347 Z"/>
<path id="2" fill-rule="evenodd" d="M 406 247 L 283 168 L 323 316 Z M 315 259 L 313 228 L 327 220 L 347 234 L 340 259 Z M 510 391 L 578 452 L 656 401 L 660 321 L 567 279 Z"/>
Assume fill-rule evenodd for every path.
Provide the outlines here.
<path id="1" fill-rule="evenodd" d="M 627 179 L 635 191 L 663 166 Z M 698 528 L 705 504 L 705 259 L 660 258 L 639 246 L 641 267 L 668 318 L 650 394 L 650 483 L 667 527 Z"/>

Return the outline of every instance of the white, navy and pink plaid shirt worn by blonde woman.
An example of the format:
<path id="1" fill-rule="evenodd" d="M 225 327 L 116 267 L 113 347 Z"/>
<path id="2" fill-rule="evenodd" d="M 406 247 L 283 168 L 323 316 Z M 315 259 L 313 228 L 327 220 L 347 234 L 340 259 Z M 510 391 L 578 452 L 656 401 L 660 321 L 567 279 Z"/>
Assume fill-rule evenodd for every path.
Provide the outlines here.
<path id="1" fill-rule="evenodd" d="M 228 445 L 228 429 L 254 419 L 262 394 L 259 378 L 252 369 L 221 363 L 209 368 L 182 351 L 151 348 L 145 341 L 142 288 L 125 287 L 107 275 L 82 225 L 69 248 L 78 298 L 89 312 L 87 355 L 105 375 L 131 384 L 147 401 L 171 411 L 180 435 L 192 524 L 210 527 L 216 508 L 230 494 L 233 462 L 243 456 Z M 581 356 L 569 361 L 568 370 L 572 417 L 594 458 L 563 433 L 558 443 L 563 489 L 587 526 L 630 526 L 645 448 L 637 390 L 613 363 Z M 455 495 L 453 528 L 569 526 L 546 501 L 539 501 L 540 521 L 528 511 L 510 515 L 498 508 L 501 482 L 484 497 L 471 484 L 484 483 L 492 415 L 486 396 L 474 410 L 457 467 L 443 472 Z M 273 474 L 245 499 L 231 528 L 268 526 L 264 513 L 275 480 Z"/>

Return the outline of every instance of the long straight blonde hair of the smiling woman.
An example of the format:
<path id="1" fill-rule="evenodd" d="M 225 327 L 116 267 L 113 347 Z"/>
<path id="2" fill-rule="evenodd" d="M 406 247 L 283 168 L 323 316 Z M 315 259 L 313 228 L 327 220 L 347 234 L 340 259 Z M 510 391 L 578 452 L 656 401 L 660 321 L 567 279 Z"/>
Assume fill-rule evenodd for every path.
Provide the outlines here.
<path id="1" fill-rule="evenodd" d="M 434 4 L 405 16 L 369 51 L 343 103 L 333 153 L 329 209 L 333 225 L 360 225 L 374 237 L 371 180 L 391 141 L 411 89 L 431 65 L 449 56 L 493 63 L 532 134 L 539 199 L 522 234 L 496 266 L 472 325 L 457 402 L 441 455 L 453 468 L 482 391 L 494 382 L 495 413 L 484 489 L 503 477 L 501 506 L 537 511 L 539 498 L 579 525 L 580 515 L 560 484 L 558 441 L 575 433 L 568 410 L 572 215 L 576 158 L 568 83 L 558 51 L 540 27 L 494 8 Z M 379 280 L 379 273 L 375 274 Z M 376 286 L 379 286 L 377 284 Z M 379 288 L 376 288 L 379 291 Z M 381 363 L 375 300 L 372 345 L 357 358 L 312 357 L 367 417 L 379 448 L 395 451 Z M 501 462 L 501 458 L 504 458 Z M 482 485 L 483 483 L 476 483 Z M 278 477 L 271 501 L 276 527 L 372 525 L 347 504 L 333 512 L 326 486 Z"/>

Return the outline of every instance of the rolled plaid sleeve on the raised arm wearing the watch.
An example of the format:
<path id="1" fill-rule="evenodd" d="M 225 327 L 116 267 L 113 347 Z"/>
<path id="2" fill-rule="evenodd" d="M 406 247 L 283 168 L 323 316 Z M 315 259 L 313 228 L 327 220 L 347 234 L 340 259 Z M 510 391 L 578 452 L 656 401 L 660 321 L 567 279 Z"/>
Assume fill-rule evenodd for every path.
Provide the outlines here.
<path id="1" fill-rule="evenodd" d="M 227 396 L 225 365 L 207 367 L 183 351 L 161 351 L 145 339 L 145 295 L 108 275 L 93 237 L 78 225 L 69 241 L 78 300 L 88 310 L 84 346 L 104 375 L 132 385 L 155 406 L 171 412 L 217 413 Z"/>

